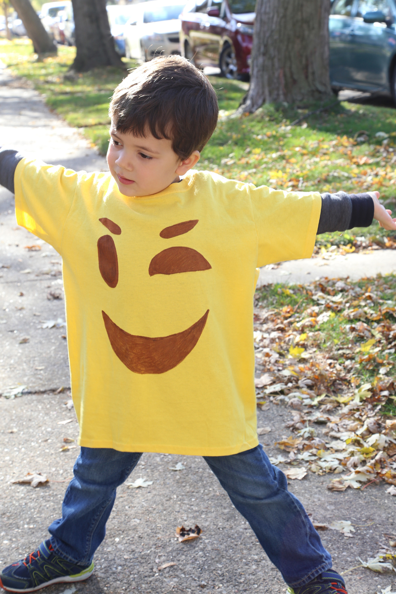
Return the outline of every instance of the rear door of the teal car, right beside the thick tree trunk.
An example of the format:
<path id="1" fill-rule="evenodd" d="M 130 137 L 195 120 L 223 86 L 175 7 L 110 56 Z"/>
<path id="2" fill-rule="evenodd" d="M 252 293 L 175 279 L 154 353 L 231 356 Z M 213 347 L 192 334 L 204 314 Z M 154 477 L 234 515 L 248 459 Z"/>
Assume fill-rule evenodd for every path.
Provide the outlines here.
<path id="1" fill-rule="evenodd" d="M 349 86 L 351 64 L 349 50 L 356 0 L 335 0 L 329 18 L 330 80 L 332 87 Z"/>

